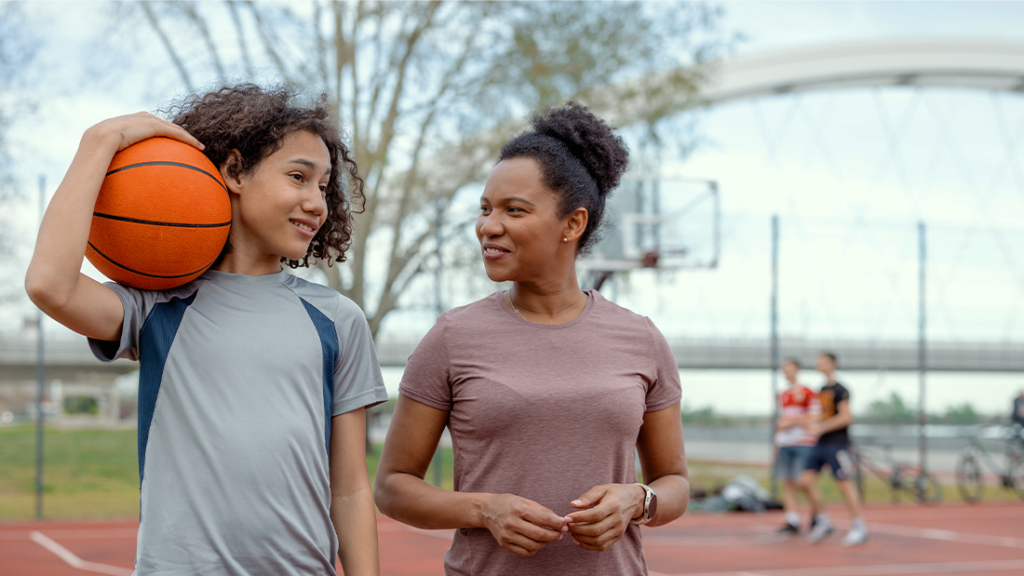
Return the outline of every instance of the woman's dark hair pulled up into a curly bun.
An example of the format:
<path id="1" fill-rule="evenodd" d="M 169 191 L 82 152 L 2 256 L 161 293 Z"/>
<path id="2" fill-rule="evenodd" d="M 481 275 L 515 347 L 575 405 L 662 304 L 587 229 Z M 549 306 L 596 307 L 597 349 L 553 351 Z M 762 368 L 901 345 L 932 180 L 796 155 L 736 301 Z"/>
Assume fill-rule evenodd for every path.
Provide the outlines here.
<path id="1" fill-rule="evenodd" d="M 532 130 L 502 147 L 498 161 L 531 158 L 541 165 L 544 183 L 559 196 L 558 217 L 587 209 L 587 229 L 577 255 L 600 240 L 604 201 L 626 172 L 630 153 L 611 127 L 577 101 L 529 117 Z"/>

